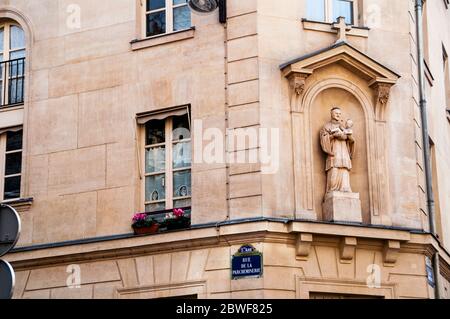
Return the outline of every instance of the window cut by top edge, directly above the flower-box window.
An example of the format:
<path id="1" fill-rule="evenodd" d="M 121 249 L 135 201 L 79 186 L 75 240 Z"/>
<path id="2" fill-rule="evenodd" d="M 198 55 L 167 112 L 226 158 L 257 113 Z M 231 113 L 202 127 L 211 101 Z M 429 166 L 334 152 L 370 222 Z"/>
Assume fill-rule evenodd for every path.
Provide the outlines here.
<path id="1" fill-rule="evenodd" d="M 152 37 L 191 27 L 191 11 L 186 0 L 146 0 L 145 35 Z"/>

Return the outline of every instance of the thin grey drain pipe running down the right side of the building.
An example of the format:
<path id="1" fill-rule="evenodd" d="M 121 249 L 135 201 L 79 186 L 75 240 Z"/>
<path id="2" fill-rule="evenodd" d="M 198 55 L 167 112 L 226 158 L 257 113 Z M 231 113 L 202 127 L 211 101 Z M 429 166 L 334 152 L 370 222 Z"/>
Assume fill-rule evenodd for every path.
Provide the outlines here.
<path id="1" fill-rule="evenodd" d="M 435 225 L 435 205 L 433 195 L 433 177 L 431 173 L 431 156 L 430 156 L 430 138 L 428 134 L 428 115 L 427 100 L 425 96 L 425 64 L 424 64 L 424 45 L 423 45 L 423 0 L 416 0 L 416 27 L 417 27 L 417 64 L 419 71 L 419 97 L 420 97 L 420 115 L 422 120 L 422 137 L 423 137 L 423 157 L 424 169 L 427 189 L 427 208 L 430 223 L 430 233 L 436 234 Z M 439 253 L 436 253 L 433 261 L 434 277 L 435 277 L 435 298 L 440 299 L 439 291 Z"/>

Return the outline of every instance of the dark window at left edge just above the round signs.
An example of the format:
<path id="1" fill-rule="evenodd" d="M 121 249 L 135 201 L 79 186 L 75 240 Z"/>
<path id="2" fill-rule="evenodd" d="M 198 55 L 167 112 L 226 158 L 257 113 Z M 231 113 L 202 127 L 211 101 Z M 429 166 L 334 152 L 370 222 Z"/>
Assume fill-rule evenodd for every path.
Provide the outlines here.
<path id="1" fill-rule="evenodd" d="M 2 200 L 18 199 L 22 179 L 22 130 L 7 131 L 0 135 L 3 178 L 0 183 Z"/>

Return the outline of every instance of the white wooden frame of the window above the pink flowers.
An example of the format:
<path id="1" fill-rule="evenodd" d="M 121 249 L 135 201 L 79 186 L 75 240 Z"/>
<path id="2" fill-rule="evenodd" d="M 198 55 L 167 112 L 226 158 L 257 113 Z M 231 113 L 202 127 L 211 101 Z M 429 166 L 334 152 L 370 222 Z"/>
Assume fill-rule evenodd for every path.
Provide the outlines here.
<path id="1" fill-rule="evenodd" d="M 188 115 L 189 117 L 189 115 Z M 191 166 L 189 167 L 183 167 L 183 168 L 173 168 L 173 149 L 174 149 L 174 145 L 178 144 L 178 143 L 191 143 L 191 147 L 192 147 L 192 132 L 191 132 L 191 137 L 190 138 L 186 138 L 186 139 L 182 139 L 182 140 L 174 140 L 173 139 L 173 132 L 172 132 L 172 128 L 173 128 L 173 119 L 174 116 L 169 116 L 166 119 L 164 119 L 165 121 L 165 141 L 163 143 L 158 143 L 158 144 L 151 144 L 151 145 L 147 145 L 147 125 L 144 124 L 142 125 L 142 141 L 141 141 L 141 145 L 143 145 L 143 152 L 140 155 L 140 159 L 141 159 L 141 163 L 143 163 L 143 165 L 141 165 L 141 176 L 143 176 L 142 178 L 142 192 L 141 192 L 141 196 L 142 196 L 142 203 L 143 203 L 143 211 L 147 212 L 145 207 L 147 205 L 151 205 L 151 204 L 158 204 L 158 203 L 163 203 L 165 202 L 165 210 L 171 210 L 174 208 L 174 201 L 178 201 L 178 200 L 187 200 L 190 199 L 191 200 L 191 204 L 192 204 L 192 191 L 191 191 L 191 196 L 184 196 L 184 197 L 174 197 L 173 196 L 173 176 L 174 173 L 176 172 L 183 172 L 183 171 L 189 171 L 191 174 L 191 190 L 192 190 L 192 159 L 191 159 Z M 159 172 L 154 172 L 154 173 L 146 173 L 145 169 L 146 169 L 146 159 L 145 159 L 145 154 L 146 154 L 146 150 L 153 148 L 153 147 L 158 147 L 158 146 L 163 146 L 165 147 L 166 150 L 166 157 L 165 157 L 165 161 L 166 161 L 166 165 L 165 165 L 165 170 L 164 170 L 164 175 L 165 175 L 165 193 L 166 193 L 166 198 L 163 200 L 157 200 L 157 201 L 146 201 L 145 198 L 145 193 L 146 193 L 146 178 L 148 176 L 154 176 L 154 175 L 162 175 L 163 172 L 159 171 Z"/>

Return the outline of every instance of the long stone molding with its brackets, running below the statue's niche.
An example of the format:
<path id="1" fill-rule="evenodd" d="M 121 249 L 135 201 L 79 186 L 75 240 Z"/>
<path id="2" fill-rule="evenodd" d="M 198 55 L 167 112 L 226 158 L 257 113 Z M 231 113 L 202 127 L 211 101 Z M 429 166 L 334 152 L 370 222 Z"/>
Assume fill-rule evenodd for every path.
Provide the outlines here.
<path id="1" fill-rule="evenodd" d="M 327 240 L 323 240 L 323 239 Z M 331 240 L 334 238 L 334 240 Z M 388 247 L 387 259 L 393 262 L 395 254 L 411 252 L 423 254 L 428 250 L 439 250 L 443 263 L 450 264 L 447 254 L 429 234 L 415 234 L 407 230 L 369 228 L 362 226 L 337 225 L 314 222 L 260 221 L 203 229 L 192 229 L 153 236 L 132 237 L 83 245 L 47 248 L 33 251 L 19 251 L 8 254 L 5 259 L 17 271 L 35 267 L 64 265 L 67 263 L 93 262 L 105 259 L 128 258 L 161 254 L 163 252 L 189 251 L 212 247 L 229 247 L 247 243 L 283 243 L 296 248 L 298 260 L 308 260 L 315 244 L 339 246 L 341 262 L 352 260 L 353 249 L 363 249 L 370 240 L 371 247 Z M 378 242 L 378 244 L 376 244 Z M 400 248 L 395 242 L 401 243 Z M 328 243 L 328 244 L 327 244 Z M 374 246 L 375 245 L 375 246 Z M 397 245 L 397 246 L 396 246 Z"/>

